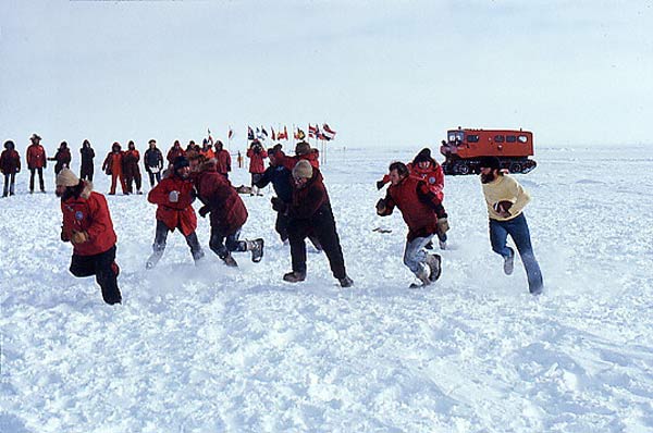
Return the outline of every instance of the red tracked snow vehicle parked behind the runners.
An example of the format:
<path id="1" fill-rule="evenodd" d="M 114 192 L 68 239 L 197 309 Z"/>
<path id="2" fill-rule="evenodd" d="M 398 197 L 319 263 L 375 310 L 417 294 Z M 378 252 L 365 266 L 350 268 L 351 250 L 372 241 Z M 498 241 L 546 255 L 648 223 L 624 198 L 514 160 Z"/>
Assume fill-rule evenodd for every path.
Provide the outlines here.
<path id="1" fill-rule="evenodd" d="M 502 169 L 510 173 L 528 173 L 537 165 L 528 159 L 533 152 L 533 133 L 516 129 L 449 129 L 440 152 L 446 160 L 445 174 L 478 174 L 482 157 L 497 157 Z"/>

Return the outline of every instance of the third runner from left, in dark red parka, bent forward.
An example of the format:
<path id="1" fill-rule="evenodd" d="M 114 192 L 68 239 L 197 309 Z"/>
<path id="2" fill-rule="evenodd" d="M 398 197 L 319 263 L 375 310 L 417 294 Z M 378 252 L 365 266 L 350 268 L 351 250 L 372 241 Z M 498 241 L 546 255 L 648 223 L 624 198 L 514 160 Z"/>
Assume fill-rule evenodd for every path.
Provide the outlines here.
<path id="1" fill-rule="evenodd" d="M 204 203 L 199 214 L 204 218 L 209 213 L 211 221 L 209 248 L 229 267 L 237 267 L 232 257 L 233 251 L 251 251 L 251 261 L 261 261 L 263 239 L 238 239 L 241 228 L 247 221 L 247 209 L 229 180 L 218 172 L 214 159 L 200 166 L 195 186 L 197 196 Z"/>

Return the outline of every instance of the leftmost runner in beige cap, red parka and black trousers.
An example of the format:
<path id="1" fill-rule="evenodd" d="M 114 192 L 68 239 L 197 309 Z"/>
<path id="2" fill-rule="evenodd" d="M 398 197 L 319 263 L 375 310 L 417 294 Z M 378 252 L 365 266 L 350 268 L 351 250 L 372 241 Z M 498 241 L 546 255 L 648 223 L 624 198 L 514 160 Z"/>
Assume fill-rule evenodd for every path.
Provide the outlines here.
<path id="1" fill-rule="evenodd" d="M 62 169 L 57 175 L 56 194 L 61 198 L 63 212 L 61 240 L 73 244 L 71 273 L 95 275 L 104 302 L 121 304 L 116 280 L 120 269 L 115 263 L 118 237 L 107 199 L 93 190 L 90 182 L 79 181 L 69 169 Z"/>

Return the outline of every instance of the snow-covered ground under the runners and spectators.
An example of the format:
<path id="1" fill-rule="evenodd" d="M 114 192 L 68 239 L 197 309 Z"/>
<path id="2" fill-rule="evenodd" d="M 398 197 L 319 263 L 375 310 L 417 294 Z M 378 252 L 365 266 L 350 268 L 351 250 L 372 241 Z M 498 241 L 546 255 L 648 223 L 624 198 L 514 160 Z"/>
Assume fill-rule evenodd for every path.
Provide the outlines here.
<path id="1" fill-rule="evenodd" d="M 21 173 L 17 196 L 0 200 L 0 431 L 653 431 L 653 150 L 538 149 L 538 169 L 517 178 L 533 196 L 540 297 L 520 262 L 503 274 L 476 176 L 446 180 L 441 280 L 407 288 L 405 225 L 375 215 L 374 181 L 418 150 L 328 154 L 349 289 L 316 252 L 306 282 L 282 281 L 289 250 L 271 190 L 244 197 L 243 236 L 262 236 L 266 255 L 236 255 L 236 270 L 208 249 L 200 219 L 202 265 L 175 233 L 146 271 L 155 207 L 109 197 L 116 307 L 67 272 L 51 169 L 47 195 L 26 194 Z M 248 183 L 245 170 L 233 177 Z"/>

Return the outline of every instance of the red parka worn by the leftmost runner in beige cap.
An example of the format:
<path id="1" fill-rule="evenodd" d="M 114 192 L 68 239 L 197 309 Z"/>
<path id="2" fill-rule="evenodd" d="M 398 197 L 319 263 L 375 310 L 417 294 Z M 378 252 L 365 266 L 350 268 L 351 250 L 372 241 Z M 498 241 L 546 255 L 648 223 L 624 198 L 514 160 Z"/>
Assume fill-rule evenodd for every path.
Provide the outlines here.
<path id="1" fill-rule="evenodd" d="M 86 232 L 88 240 L 74 245 L 73 252 L 78 256 L 95 256 L 113 247 L 118 237 L 113 231 L 107 199 L 95 193 L 89 182 L 84 182 L 86 186 L 78 198 L 71 197 L 61 202 L 62 237 L 70 239 L 73 231 Z"/>

